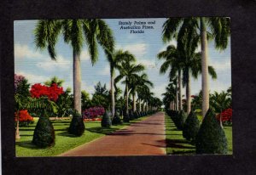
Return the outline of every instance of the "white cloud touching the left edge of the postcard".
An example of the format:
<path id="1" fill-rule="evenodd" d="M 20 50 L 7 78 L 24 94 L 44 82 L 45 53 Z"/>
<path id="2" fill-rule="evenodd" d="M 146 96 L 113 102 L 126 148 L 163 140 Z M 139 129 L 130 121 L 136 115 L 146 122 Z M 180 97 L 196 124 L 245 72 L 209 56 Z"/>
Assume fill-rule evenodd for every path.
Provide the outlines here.
<path id="1" fill-rule="evenodd" d="M 25 59 L 25 58 L 43 58 L 43 55 L 38 51 L 32 51 L 27 45 L 15 44 L 15 59 Z"/>

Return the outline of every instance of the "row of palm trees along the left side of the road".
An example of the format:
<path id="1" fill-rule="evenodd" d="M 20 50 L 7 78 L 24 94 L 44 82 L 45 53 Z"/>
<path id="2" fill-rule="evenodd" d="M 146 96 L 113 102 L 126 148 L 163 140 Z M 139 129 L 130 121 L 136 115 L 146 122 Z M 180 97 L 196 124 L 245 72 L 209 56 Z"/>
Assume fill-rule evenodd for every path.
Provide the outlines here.
<path id="1" fill-rule="evenodd" d="M 140 105 L 142 100 L 148 105 L 148 98 L 152 98 L 148 86 L 153 87 L 153 84 L 148 81 L 148 76 L 143 73 L 145 67 L 136 65 L 136 58 L 128 51 L 114 50 L 113 34 L 104 20 L 39 20 L 35 29 L 35 44 L 37 48 L 47 48 L 50 58 L 56 60 L 55 44 L 60 34 L 64 37 L 64 42 L 70 44 L 73 48 L 73 100 L 75 110 L 81 112 L 80 54 L 85 43 L 89 49 L 92 65 L 97 61 L 98 43 L 102 46 L 108 59 L 112 117 L 115 113 L 114 86 L 123 78 L 125 79 L 122 83 L 125 84 L 126 113 L 129 110 L 130 93 L 133 97 L 133 111 L 136 111 L 136 93 Z M 117 77 L 115 77 L 115 70 L 119 71 Z"/>

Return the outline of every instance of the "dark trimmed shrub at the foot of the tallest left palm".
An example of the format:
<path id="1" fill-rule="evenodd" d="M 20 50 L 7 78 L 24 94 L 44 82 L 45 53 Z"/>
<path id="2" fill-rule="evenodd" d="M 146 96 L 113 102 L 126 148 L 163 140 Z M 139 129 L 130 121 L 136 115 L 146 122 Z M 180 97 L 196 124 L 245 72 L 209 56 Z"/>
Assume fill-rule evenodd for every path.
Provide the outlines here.
<path id="1" fill-rule="evenodd" d="M 75 111 L 73 114 L 72 121 L 68 128 L 68 133 L 74 134 L 76 136 L 81 136 L 83 135 L 84 130 L 85 130 L 85 127 L 84 127 L 83 118 L 78 111 Z"/>

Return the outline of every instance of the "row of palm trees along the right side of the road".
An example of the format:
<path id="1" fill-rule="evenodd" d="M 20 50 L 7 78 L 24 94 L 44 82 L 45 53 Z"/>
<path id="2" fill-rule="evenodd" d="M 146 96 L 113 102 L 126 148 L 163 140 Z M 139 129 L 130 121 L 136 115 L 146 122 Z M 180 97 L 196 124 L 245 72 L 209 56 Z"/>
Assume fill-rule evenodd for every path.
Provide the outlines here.
<path id="1" fill-rule="evenodd" d="M 171 67 L 170 77 L 178 79 L 179 103 L 181 103 L 181 71 L 183 71 L 183 85 L 186 86 L 187 113 L 190 111 L 190 74 L 195 78 L 202 76 L 202 115 L 209 109 L 209 82 L 208 73 L 212 78 L 217 78 L 212 66 L 208 65 L 207 41 L 214 39 L 215 47 L 224 49 L 230 37 L 230 18 L 225 17 L 195 17 L 195 18 L 170 18 L 163 25 L 163 41 L 177 40 L 177 48 L 173 45 L 166 51 L 158 54 L 159 59 L 166 59 L 160 68 L 160 73 L 165 73 Z M 201 52 L 195 52 L 201 44 Z M 181 105 L 179 104 L 181 110 Z"/>

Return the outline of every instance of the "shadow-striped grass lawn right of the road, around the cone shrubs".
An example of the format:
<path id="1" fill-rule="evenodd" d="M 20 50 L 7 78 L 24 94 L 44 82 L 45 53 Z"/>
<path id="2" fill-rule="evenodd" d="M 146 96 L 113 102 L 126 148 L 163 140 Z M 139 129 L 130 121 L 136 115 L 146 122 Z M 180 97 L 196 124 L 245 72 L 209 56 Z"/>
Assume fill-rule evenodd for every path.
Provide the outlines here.
<path id="1" fill-rule="evenodd" d="M 166 117 L 166 154 L 167 155 L 195 155 L 195 146 L 183 138 L 183 132 L 177 130 L 170 116 Z M 232 155 L 232 127 L 224 127 L 228 139 L 229 155 Z"/>

